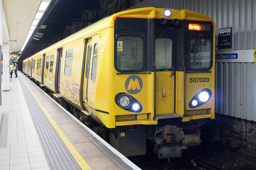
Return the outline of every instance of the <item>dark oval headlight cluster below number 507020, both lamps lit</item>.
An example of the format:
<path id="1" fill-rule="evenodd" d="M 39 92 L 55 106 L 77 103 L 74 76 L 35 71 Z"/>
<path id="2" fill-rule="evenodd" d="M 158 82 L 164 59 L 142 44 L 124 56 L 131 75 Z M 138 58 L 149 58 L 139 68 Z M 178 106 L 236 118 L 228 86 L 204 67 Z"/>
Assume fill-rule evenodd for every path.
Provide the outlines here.
<path id="1" fill-rule="evenodd" d="M 212 97 L 212 91 L 210 89 L 203 89 L 199 91 L 194 97 L 190 100 L 188 106 L 192 109 L 202 106 L 207 103 Z"/>

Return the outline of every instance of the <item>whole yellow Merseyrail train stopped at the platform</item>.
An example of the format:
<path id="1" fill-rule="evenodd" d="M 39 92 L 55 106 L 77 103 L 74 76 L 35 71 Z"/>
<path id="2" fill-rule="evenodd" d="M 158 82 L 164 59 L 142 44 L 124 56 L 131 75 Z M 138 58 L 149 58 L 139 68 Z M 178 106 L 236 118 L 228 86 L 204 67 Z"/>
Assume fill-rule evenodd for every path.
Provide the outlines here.
<path id="1" fill-rule="evenodd" d="M 215 23 L 140 8 L 101 19 L 23 61 L 23 72 L 125 156 L 180 157 L 214 119 Z M 153 149 L 153 148 L 152 148 Z"/>

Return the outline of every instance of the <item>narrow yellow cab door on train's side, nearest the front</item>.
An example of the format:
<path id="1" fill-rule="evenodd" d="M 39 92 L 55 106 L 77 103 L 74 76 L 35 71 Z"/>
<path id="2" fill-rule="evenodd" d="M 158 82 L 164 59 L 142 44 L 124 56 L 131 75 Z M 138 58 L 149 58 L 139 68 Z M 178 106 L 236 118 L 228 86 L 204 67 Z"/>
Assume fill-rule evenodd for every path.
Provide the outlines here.
<path id="1" fill-rule="evenodd" d="M 85 64 L 84 83 L 83 83 L 83 101 L 85 101 L 85 104 L 87 104 L 88 102 L 88 83 L 90 79 L 89 72 L 90 72 L 92 39 L 88 39 L 86 49 L 87 49 L 86 64 Z"/>

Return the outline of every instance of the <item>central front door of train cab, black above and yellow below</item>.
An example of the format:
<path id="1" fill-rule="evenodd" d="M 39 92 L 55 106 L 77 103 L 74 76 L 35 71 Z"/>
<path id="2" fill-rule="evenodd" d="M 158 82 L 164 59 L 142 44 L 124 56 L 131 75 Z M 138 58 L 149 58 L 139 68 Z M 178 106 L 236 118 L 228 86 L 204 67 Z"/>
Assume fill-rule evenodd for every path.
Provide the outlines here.
<path id="1" fill-rule="evenodd" d="M 171 29 L 171 30 L 170 30 Z M 156 27 L 155 39 L 155 114 L 175 113 L 175 30 Z"/>

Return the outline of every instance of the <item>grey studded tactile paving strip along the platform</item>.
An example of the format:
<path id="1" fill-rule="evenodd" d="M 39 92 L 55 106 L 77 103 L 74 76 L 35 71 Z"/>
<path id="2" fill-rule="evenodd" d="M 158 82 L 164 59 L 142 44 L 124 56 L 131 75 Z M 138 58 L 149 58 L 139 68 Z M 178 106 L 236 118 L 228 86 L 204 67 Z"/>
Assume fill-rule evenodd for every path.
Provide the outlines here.
<path id="1" fill-rule="evenodd" d="M 49 168 L 52 170 L 80 169 L 20 76 L 19 81 Z"/>

